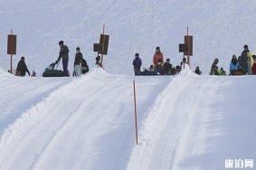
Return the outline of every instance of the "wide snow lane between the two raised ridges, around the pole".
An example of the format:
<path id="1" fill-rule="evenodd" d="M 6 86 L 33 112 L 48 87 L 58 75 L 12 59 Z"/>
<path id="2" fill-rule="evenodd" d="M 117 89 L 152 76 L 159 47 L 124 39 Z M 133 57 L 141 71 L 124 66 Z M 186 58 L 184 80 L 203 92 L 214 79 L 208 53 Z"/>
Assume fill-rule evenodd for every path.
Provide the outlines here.
<path id="1" fill-rule="evenodd" d="M 0 169 L 125 168 L 134 143 L 132 79 L 92 71 L 53 91 L 5 129 Z M 170 79 L 151 80 L 137 80 L 139 105 L 152 105 Z"/>

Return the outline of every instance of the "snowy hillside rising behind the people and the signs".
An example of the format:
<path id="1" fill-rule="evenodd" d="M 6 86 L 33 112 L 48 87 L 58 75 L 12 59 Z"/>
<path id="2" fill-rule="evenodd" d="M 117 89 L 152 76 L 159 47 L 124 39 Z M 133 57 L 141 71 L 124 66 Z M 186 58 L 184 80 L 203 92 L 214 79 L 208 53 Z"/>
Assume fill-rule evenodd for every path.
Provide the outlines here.
<path id="1" fill-rule="evenodd" d="M 245 43 L 256 52 L 256 3 L 251 0 L 19 0 L 0 1 L 0 6 L 0 66 L 5 70 L 9 67 L 5 37 L 11 28 L 19 35 L 15 63 L 24 55 L 37 72 L 56 60 L 60 40 L 69 45 L 71 62 L 75 47 L 81 46 L 92 67 L 92 44 L 99 42 L 102 24 L 110 34 L 105 60 L 110 72 L 131 73 L 135 52 L 147 68 L 156 46 L 178 64 L 182 56 L 177 47 L 184 41 L 186 26 L 194 35 L 192 66 L 201 66 L 205 74 L 216 57 L 227 68 L 232 54 L 241 54 Z"/>

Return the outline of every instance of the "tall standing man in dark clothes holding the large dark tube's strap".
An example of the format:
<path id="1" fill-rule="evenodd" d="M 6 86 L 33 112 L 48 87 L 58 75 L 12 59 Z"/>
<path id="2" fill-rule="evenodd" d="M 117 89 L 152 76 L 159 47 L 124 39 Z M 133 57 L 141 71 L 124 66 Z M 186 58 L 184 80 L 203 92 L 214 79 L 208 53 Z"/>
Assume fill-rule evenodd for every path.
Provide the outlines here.
<path id="1" fill-rule="evenodd" d="M 60 52 L 59 52 L 59 58 L 57 61 L 55 61 L 55 64 L 58 63 L 59 61 L 61 61 L 62 59 L 62 66 L 63 66 L 63 72 L 64 72 L 64 76 L 69 77 L 70 73 L 68 70 L 68 65 L 69 65 L 69 47 L 64 45 L 64 42 L 61 41 L 59 42 L 60 45 Z"/>

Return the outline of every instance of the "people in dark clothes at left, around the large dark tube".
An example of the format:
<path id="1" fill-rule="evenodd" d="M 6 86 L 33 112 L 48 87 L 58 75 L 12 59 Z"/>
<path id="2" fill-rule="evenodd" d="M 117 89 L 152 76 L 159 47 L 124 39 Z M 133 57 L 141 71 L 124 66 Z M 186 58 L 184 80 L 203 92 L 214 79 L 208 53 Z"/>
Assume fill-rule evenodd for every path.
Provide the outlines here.
<path id="1" fill-rule="evenodd" d="M 60 52 L 57 61 L 53 62 L 54 65 L 59 63 L 62 60 L 63 76 L 70 77 L 70 71 L 68 70 L 69 65 L 69 47 L 64 44 L 63 41 L 59 42 Z M 80 47 L 76 48 L 75 60 L 74 60 L 74 71 L 73 76 L 81 76 L 89 71 L 89 66 L 87 61 L 83 58 Z M 16 73 L 17 76 L 25 76 L 25 73 L 28 73 L 30 76 L 30 71 L 28 70 L 24 57 L 18 62 Z M 33 71 L 32 76 L 36 76 L 36 73 Z"/>

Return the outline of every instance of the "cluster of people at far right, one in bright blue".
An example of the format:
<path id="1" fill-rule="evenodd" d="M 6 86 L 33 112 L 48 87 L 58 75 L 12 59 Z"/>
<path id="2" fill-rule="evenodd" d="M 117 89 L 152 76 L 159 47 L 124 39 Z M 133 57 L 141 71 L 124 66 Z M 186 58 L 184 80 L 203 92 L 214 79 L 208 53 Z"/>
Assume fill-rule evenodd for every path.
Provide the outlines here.
<path id="1" fill-rule="evenodd" d="M 221 68 L 218 69 L 219 60 L 215 59 L 212 64 L 210 71 L 211 75 L 227 75 L 226 71 Z M 256 56 L 250 52 L 248 45 L 243 46 L 241 56 L 238 58 L 236 55 L 232 55 L 230 63 L 230 74 L 229 75 L 256 75 Z"/>

